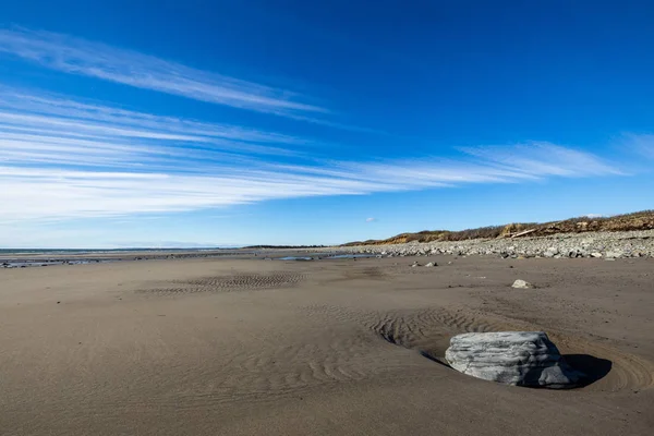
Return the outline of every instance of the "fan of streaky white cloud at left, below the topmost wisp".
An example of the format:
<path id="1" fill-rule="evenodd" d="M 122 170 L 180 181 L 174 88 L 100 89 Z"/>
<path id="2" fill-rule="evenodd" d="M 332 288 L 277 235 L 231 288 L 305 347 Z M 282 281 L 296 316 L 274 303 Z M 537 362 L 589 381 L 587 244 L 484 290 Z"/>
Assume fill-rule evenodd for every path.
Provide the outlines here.
<path id="1" fill-rule="evenodd" d="M 311 141 L 277 132 L 155 116 L 0 86 L 0 165 L 148 170 L 293 156 Z M 180 161 L 192 166 L 180 166 Z"/>

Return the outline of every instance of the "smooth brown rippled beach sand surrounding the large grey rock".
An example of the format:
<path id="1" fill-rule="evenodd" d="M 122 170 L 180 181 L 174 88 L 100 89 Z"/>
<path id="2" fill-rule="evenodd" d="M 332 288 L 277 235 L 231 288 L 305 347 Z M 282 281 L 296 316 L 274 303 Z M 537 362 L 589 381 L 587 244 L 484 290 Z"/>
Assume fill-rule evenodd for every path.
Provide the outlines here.
<path id="1" fill-rule="evenodd" d="M 419 259 L 439 266 L 0 269 L 0 433 L 651 434 L 654 259 Z M 439 362 L 452 335 L 504 329 L 547 331 L 596 380 L 528 389 Z"/>

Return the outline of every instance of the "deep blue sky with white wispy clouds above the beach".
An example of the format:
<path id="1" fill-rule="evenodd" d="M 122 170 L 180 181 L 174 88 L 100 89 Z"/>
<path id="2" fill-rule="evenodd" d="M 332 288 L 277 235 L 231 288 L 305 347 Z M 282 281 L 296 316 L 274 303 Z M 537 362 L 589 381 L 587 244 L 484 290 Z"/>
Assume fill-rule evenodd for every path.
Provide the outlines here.
<path id="1" fill-rule="evenodd" d="M 0 0 L 0 246 L 654 207 L 649 1 Z"/>

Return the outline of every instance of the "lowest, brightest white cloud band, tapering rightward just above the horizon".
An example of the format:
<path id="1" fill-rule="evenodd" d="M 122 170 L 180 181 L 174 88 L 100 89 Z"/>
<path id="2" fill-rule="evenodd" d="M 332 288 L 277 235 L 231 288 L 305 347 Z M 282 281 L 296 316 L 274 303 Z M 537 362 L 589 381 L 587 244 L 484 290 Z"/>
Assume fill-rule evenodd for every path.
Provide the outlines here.
<path id="1" fill-rule="evenodd" d="M 86 157 L 88 158 L 88 157 Z M 562 164 L 562 162 L 561 162 Z M 92 171 L 45 167 L 0 166 L 0 219 L 65 219 L 81 217 L 123 216 L 143 213 L 170 213 L 247 204 L 269 199 L 325 195 L 362 195 L 398 192 L 461 183 L 516 182 L 549 177 L 549 173 L 497 178 L 495 169 L 483 166 L 456 169 L 436 162 L 431 172 L 412 180 L 393 180 L 390 173 L 411 171 L 402 164 L 385 165 L 383 171 L 361 166 L 339 177 L 307 174 L 302 167 L 274 171 L 261 164 L 253 167 L 223 166 L 202 174 L 170 172 Z M 421 171 L 426 169 L 423 167 Z M 457 172 L 457 181 L 452 174 Z M 440 175 L 444 174 L 444 175 Z"/>

